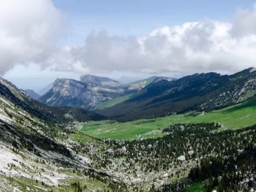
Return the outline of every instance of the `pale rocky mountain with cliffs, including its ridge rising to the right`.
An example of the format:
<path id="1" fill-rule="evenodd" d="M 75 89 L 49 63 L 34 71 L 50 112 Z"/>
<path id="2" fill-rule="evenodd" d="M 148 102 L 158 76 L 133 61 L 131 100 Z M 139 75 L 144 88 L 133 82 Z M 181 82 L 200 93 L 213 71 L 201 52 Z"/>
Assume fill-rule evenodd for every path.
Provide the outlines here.
<path id="1" fill-rule="evenodd" d="M 50 106 L 71 106 L 92 109 L 102 102 L 136 93 L 156 77 L 110 87 L 73 79 L 56 79 L 51 90 L 39 100 Z"/>

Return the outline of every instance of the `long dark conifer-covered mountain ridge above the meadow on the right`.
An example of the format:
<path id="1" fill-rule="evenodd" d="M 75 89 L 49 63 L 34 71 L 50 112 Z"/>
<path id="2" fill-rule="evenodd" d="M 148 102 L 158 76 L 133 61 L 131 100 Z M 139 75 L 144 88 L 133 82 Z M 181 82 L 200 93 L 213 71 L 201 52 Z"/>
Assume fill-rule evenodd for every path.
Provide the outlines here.
<path id="1" fill-rule="evenodd" d="M 155 118 L 187 111 L 212 111 L 243 102 L 256 93 L 255 68 L 233 75 L 201 73 L 176 81 L 158 81 L 136 97 L 96 111 L 119 121 Z"/>

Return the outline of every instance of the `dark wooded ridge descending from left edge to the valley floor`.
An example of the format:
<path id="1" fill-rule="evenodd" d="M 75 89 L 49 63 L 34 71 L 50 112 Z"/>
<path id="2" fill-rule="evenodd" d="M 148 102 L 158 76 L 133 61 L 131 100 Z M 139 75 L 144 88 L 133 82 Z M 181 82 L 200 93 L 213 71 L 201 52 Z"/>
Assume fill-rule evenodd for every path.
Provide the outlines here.
<path id="1" fill-rule="evenodd" d="M 14 84 L 2 77 L 0 77 L 0 96 L 8 99 L 17 108 L 22 108 L 33 116 L 52 124 L 105 119 L 104 116 L 81 108 L 56 108 L 44 105 L 32 99 L 24 90 L 18 89 Z"/>

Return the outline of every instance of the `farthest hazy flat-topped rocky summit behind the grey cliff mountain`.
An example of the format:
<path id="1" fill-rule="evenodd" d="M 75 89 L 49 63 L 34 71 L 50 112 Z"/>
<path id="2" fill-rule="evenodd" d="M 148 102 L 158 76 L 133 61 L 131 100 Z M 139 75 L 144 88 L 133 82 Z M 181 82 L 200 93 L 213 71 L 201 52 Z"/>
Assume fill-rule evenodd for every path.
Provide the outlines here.
<path id="1" fill-rule="evenodd" d="M 105 87 L 117 87 L 121 85 L 121 83 L 119 83 L 118 81 L 109 79 L 108 77 L 99 77 L 99 76 L 93 76 L 93 75 L 81 76 L 80 81 L 93 83 L 93 84 L 105 86 Z"/>

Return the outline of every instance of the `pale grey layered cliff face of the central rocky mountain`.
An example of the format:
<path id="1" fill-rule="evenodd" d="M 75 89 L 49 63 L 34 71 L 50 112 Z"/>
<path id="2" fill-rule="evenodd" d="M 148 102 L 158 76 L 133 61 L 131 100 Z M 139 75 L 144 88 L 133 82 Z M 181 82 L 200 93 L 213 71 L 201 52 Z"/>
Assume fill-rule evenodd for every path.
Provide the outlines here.
<path id="1" fill-rule="evenodd" d="M 40 101 L 51 106 L 92 108 L 101 102 L 122 96 L 122 89 L 97 87 L 73 79 L 56 79 Z"/>

